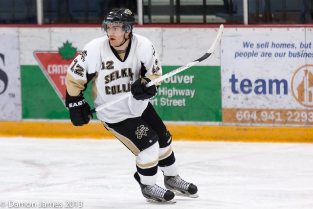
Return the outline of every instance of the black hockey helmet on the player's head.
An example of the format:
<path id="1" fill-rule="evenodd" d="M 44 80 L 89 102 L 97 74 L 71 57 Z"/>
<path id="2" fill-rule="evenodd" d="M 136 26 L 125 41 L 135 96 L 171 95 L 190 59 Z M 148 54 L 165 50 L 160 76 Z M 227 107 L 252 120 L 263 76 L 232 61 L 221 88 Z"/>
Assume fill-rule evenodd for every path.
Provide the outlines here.
<path id="1" fill-rule="evenodd" d="M 132 31 L 135 25 L 135 16 L 130 9 L 114 8 L 104 18 L 102 22 L 102 31 L 107 32 L 107 24 L 121 24 L 125 33 Z"/>

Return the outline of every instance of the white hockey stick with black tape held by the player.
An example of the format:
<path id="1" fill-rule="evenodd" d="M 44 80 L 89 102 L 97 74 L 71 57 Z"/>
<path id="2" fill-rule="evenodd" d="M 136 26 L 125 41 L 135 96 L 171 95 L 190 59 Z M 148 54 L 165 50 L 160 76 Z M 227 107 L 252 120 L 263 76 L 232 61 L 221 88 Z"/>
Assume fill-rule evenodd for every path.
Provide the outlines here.
<path id="1" fill-rule="evenodd" d="M 184 65 L 184 66 L 182 66 L 182 67 L 180 67 L 180 68 L 178 68 L 176 70 L 173 70 L 173 71 L 171 71 L 171 72 L 169 72 L 169 73 L 167 73 L 165 75 L 162 75 L 161 77 L 156 78 L 156 80 L 153 80 L 153 81 L 147 83 L 146 87 L 150 87 L 152 85 L 155 85 L 156 83 L 158 83 L 158 82 L 160 82 L 162 80 L 165 80 L 166 78 L 169 78 L 169 77 L 171 77 L 171 76 L 173 76 L 173 75 L 175 75 L 175 74 L 177 74 L 177 73 L 179 73 L 179 72 L 181 72 L 183 70 L 186 70 L 186 69 L 188 69 L 188 68 L 190 68 L 190 67 L 192 67 L 192 66 L 194 66 L 194 65 L 196 65 L 198 63 L 200 63 L 201 61 L 205 60 L 206 58 L 208 58 L 212 54 L 212 52 L 214 51 L 215 46 L 217 45 L 217 43 L 220 42 L 221 37 L 222 37 L 222 33 L 223 33 L 223 29 L 224 29 L 224 25 L 221 24 L 219 32 L 217 34 L 217 37 L 215 38 L 215 41 L 214 41 L 213 45 L 209 48 L 209 50 L 201 58 L 199 58 L 198 60 L 195 60 L 195 61 L 193 61 L 191 63 L 188 63 L 187 65 Z M 122 96 L 120 96 L 120 97 L 118 97 L 116 99 L 113 99 L 112 101 L 107 102 L 107 103 L 105 103 L 103 105 L 100 105 L 99 107 L 91 110 L 90 114 L 93 114 L 95 112 L 98 112 L 99 110 L 102 110 L 102 109 L 104 109 L 106 107 L 109 107 L 112 104 L 114 104 L 114 103 L 116 103 L 116 102 L 118 102 L 118 101 L 120 101 L 122 99 L 125 99 L 125 98 L 129 97 L 130 95 L 132 95 L 131 92 L 125 93 L 124 95 L 122 95 Z"/>

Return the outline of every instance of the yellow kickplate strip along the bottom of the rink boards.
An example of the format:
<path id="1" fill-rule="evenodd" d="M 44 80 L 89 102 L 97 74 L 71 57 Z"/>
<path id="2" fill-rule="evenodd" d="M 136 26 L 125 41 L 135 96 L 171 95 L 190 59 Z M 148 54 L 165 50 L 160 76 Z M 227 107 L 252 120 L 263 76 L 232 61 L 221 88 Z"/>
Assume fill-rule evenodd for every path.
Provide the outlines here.
<path id="1" fill-rule="evenodd" d="M 309 142 L 313 143 L 313 127 L 236 127 L 167 125 L 174 140 L 245 141 L 245 142 Z M 135 134 L 135 133 L 134 133 Z M 114 139 L 101 123 L 76 127 L 59 122 L 0 122 L 2 137 Z"/>

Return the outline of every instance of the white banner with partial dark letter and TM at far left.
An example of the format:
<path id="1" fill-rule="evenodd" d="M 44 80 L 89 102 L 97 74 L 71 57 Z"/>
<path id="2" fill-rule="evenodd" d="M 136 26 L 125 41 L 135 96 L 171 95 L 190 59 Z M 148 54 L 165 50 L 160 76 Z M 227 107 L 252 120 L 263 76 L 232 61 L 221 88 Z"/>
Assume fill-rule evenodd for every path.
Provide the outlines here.
<path id="1" fill-rule="evenodd" d="M 0 121 L 22 120 L 19 35 L 0 28 Z"/>

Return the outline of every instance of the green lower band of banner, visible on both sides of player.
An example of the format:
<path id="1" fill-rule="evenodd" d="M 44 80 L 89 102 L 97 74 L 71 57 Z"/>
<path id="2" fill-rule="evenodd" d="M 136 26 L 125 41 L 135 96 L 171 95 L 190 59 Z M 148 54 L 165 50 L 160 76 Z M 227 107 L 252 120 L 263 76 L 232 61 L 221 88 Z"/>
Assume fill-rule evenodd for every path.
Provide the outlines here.
<path id="1" fill-rule="evenodd" d="M 163 74 L 179 67 L 163 66 Z M 21 83 L 23 119 L 69 119 L 63 100 L 39 66 L 22 65 Z M 94 108 L 91 83 L 84 96 Z M 164 80 L 151 103 L 165 121 L 221 122 L 220 66 L 194 66 Z"/>

